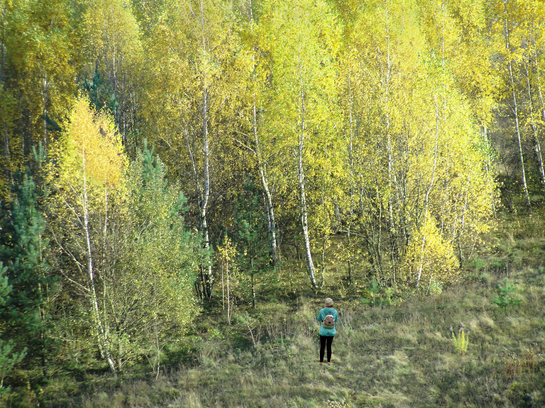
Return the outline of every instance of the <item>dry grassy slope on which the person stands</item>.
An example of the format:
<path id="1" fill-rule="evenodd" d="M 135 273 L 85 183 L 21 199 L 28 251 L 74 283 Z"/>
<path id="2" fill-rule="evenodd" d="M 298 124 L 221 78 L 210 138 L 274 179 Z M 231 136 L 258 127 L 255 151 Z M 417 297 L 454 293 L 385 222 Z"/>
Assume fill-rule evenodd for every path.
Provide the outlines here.
<path id="1" fill-rule="evenodd" d="M 441 295 L 397 305 L 336 304 L 331 368 L 318 366 L 318 299 L 262 306 L 252 330 L 266 340 L 233 347 L 249 328 L 211 330 L 198 363 L 156 382 L 126 382 L 88 394 L 88 407 L 543 407 L 545 406 L 545 238 L 543 222 L 517 221 L 490 239 L 473 278 Z M 513 225 L 515 225 L 513 227 Z M 517 232 L 517 231 L 524 231 Z M 493 302 L 506 275 L 519 306 Z M 450 337 L 463 322 L 464 355 Z M 229 334 L 230 333 L 230 334 Z"/>

